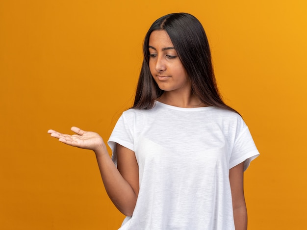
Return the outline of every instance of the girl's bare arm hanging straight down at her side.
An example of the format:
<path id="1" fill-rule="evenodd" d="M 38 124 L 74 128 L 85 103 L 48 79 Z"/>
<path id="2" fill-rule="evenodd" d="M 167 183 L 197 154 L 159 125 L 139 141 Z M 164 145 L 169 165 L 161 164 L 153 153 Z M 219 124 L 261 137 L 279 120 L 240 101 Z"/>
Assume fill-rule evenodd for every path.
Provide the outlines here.
<path id="1" fill-rule="evenodd" d="M 243 189 L 244 162 L 229 171 L 235 230 L 247 230 L 247 210 Z"/>

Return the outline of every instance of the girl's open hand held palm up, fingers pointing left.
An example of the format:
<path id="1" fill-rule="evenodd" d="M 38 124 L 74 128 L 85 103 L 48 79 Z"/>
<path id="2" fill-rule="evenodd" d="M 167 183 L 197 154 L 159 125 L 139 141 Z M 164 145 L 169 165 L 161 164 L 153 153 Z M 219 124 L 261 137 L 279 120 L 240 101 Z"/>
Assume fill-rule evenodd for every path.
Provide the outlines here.
<path id="1" fill-rule="evenodd" d="M 51 134 L 51 137 L 55 137 L 67 145 L 93 150 L 94 152 L 106 150 L 102 137 L 98 133 L 84 131 L 77 127 L 72 127 L 71 130 L 76 134 L 63 134 L 52 129 L 48 130 L 48 133 Z"/>

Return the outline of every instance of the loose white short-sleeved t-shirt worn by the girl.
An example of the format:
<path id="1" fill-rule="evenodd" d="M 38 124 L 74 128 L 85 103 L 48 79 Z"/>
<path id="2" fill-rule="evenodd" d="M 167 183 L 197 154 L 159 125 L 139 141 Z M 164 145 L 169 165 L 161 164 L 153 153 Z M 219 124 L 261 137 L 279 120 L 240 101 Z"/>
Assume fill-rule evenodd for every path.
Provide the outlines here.
<path id="1" fill-rule="evenodd" d="M 234 230 L 229 170 L 259 154 L 240 115 L 156 102 L 119 118 L 108 141 L 115 164 L 116 143 L 134 151 L 140 183 L 120 230 Z"/>

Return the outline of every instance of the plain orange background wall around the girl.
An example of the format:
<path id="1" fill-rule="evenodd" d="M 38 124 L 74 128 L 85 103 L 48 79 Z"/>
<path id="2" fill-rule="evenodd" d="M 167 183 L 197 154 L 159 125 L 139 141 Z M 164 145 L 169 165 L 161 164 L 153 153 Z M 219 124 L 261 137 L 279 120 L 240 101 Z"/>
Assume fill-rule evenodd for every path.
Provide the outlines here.
<path id="1" fill-rule="evenodd" d="M 245 173 L 249 230 L 306 229 L 306 0 L 0 0 L 0 229 L 113 230 L 93 153 L 132 102 L 149 26 L 189 12 L 207 32 L 226 102 L 261 155 Z"/>

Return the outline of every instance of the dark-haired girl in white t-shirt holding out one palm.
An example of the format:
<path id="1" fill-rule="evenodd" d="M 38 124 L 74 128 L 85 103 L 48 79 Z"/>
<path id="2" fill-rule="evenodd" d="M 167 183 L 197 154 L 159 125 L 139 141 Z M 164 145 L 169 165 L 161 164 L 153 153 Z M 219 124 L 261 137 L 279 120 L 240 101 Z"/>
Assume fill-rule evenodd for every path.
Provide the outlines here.
<path id="1" fill-rule="evenodd" d="M 146 34 L 133 107 L 108 141 L 49 130 L 96 153 L 105 189 L 127 217 L 120 230 L 246 230 L 243 172 L 258 156 L 241 116 L 218 92 L 205 31 L 192 15 Z"/>

